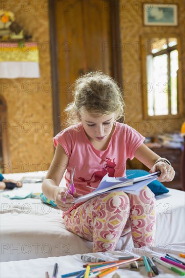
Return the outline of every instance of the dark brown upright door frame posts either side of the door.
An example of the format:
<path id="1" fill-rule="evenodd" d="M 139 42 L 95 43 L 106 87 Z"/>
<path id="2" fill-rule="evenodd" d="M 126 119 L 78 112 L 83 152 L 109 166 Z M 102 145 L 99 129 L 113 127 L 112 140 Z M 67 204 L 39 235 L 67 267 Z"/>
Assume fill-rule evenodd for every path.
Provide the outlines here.
<path id="1" fill-rule="evenodd" d="M 104 0 L 105 1 L 105 0 Z M 122 67 L 121 67 L 121 52 L 119 46 L 120 39 L 120 20 L 119 20 L 119 0 L 106 0 L 110 9 L 110 26 L 112 45 L 115 45 L 112 51 L 112 77 L 122 87 Z M 50 22 L 50 41 L 51 41 L 51 74 L 52 74 L 52 92 L 53 92 L 53 122 L 54 122 L 54 136 L 60 130 L 60 94 L 59 94 L 59 68 L 58 68 L 58 52 L 56 47 L 57 33 L 55 24 L 55 4 L 53 0 L 49 0 L 49 22 Z"/>

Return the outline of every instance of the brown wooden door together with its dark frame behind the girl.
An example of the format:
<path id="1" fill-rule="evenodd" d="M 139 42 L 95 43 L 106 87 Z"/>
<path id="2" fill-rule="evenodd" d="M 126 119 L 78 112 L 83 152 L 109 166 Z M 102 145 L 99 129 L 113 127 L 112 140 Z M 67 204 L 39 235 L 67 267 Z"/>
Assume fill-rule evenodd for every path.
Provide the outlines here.
<path id="1" fill-rule="evenodd" d="M 118 28 L 115 23 L 119 21 L 119 8 L 117 4 L 113 7 L 111 3 L 116 2 L 117 0 L 55 0 L 51 3 L 53 13 L 50 13 L 50 23 L 55 27 L 51 27 L 50 32 L 51 41 L 55 41 L 55 53 L 52 50 L 55 133 L 60 131 L 56 130 L 56 110 L 58 109 L 58 114 L 60 111 L 60 123 L 63 123 L 66 115 L 61 112 L 72 100 L 70 86 L 80 74 L 102 70 L 120 81 L 114 76 L 119 68 L 117 60 L 121 63 L 114 51 L 117 51 L 114 44 L 117 43 L 115 32 L 118 33 Z M 55 15 L 54 18 L 52 15 Z"/>

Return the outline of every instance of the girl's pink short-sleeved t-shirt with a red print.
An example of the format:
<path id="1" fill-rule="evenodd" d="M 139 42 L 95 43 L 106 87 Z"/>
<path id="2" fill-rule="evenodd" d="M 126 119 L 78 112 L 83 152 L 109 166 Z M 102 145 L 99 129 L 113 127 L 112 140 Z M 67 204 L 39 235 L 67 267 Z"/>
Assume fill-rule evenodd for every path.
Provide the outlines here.
<path id="1" fill-rule="evenodd" d="M 92 145 L 81 123 L 62 130 L 53 138 L 55 147 L 59 143 L 69 158 L 65 174 L 66 186 L 70 184 L 71 169 L 76 166 L 74 186 L 76 192 L 83 195 L 94 191 L 107 173 L 111 177 L 124 176 L 126 160 L 133 159 L 136 149 L 144 140 L 145 137 L 135 129 L 119 122 L 115 122 L 115 129 L 105 151 L 97 150 Z M 74 207 L 63 213 L 63 216 Z"/>

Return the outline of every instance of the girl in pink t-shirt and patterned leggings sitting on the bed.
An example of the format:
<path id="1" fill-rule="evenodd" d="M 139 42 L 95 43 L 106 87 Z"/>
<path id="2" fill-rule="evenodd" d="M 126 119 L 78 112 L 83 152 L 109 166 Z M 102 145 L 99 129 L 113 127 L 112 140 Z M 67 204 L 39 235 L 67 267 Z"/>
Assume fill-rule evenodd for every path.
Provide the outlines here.
<path id="1" fill-rule="evenodd" d="M 119 238 L 130 228 L 135 247 L 153 245 L 155 198 L 148 187 L 139 196 L 116 191 L 76 205 L 74 198 L 94 191 L 107 173 L 124 176 L 128 158 L 136 157 L 150 172 L 160 170 L 160 181 L 173 179 L 170 162 L 146 147 L 140 133 L 118 122 L 124 117 L 124 102 L 119 86 L 109 75 L 96 71 L 81 76 L 74 83 L 73 95 L 73 103 L 66 108 L 70 126 L 53 138 L 56 152 L 42 183 L 43 194 L 64 212 L 69 231 L 94 242 L 93 252 L 114 251 Z M 59 183 L 67 168 L 65 180 L 69 186 L 75 166 L 76 191 L 73 196 L 68 194 L 64 203 L 67 189 Z"/>

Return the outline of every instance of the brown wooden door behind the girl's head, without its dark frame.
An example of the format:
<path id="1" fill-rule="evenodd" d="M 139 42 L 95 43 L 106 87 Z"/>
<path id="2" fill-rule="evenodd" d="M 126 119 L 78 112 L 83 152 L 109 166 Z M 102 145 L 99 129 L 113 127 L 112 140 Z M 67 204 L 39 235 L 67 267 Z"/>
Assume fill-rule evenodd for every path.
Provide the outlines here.
<path id="1" fill-rule="evenodd" d="M 66 48 L 58 51 L 61 123 L 71 102 L 71 89 L 80 74 L 102 70 L 112 75 L 110 7 L 103 0 L 70 0 L 69 9 L 58 9 L 64 1 L 55 2 L 57 41 Z M 104 43 L 108 45 L 105 49 Z"/>

